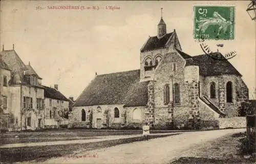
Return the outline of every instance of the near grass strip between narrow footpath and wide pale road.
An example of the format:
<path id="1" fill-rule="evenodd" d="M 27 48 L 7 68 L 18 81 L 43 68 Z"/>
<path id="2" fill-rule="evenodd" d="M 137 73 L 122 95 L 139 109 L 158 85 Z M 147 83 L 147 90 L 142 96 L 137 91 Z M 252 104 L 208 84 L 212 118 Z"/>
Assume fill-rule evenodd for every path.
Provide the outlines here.
<path id="1" fill-rule="evenodd" d="M 176 134 L 152 135 L 152 138 L 166 137 Z M 115 139 L 100 142 L 91 142 L 86 144 L 69 144 L 54 146 L 22 147 L 22 148 L 4 148 L 0 149 L 0 163 L 14 163 L 32 161 L 38 163 L 52 157 L 65 157 L 70 154 L 77 154 L 82 151 L 89 151 L 99 148 L 107 148 L 120 144 L 127 144 L 135 141 L 142 141 L 143 137 L 133 137 L 125 139 Z"/>

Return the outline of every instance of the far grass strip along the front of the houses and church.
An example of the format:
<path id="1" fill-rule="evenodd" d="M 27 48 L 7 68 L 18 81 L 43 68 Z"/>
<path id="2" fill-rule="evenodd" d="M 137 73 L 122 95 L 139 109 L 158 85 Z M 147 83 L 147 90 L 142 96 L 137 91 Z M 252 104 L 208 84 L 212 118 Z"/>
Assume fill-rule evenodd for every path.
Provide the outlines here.
<path id="1" fill-rule="evenodd" d="M 166 133 L 166 131 L 151 131 Z M 89 130 L 89 129 L 56 129 L 41 132 L 0 133 L 0 145 L 29 142 L 47 142 L 74 139 L 95 139 L 97 136 L 142 134 L 142 130 Z"/>

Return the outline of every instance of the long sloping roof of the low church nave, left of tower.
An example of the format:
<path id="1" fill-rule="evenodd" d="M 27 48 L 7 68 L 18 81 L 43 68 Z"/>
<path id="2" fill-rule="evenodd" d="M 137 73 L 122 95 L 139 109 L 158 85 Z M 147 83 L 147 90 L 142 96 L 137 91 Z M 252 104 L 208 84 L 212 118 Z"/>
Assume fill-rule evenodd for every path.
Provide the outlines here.
<path id="1" fill-rule="evenodd" d="M 97 75 L 73 106 L 147 105 L 148 81 L 139 83 L 140 70 Z"/>

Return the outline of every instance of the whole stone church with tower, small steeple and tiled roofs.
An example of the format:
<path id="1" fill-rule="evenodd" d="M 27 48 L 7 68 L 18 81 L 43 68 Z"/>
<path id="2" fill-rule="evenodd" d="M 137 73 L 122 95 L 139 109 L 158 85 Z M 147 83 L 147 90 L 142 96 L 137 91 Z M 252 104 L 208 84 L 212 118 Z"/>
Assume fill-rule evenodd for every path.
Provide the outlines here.
<path id="1" fill-rule="evenodd" d="M 219 53 L 219 52 L 216 52 Z M 221 55 L 221 54 L 220 54 Z M 223 56 L 224 57 L 224 56 Z M 140 49 L 140 69 L 96 75 L 73 105 L 70 127 L 214 126 L 248 102 L 242 75 L 227 59 L 190 56 L 161 17 Z M 203 123 L 204 122 L 204 123 Z"/>

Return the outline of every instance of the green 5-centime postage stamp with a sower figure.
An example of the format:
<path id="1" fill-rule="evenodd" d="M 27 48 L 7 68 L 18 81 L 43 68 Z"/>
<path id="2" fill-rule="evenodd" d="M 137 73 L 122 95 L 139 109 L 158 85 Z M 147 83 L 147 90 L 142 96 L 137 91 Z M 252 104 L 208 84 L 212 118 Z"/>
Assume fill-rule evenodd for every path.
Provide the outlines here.
<path id="1" fill-rule="evenodd" d="M 234 39 L 234 6 L 194 6 L 195 39 Z"/>

